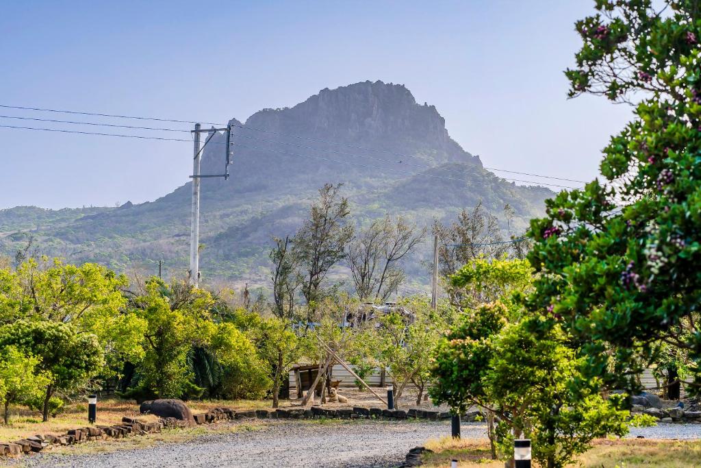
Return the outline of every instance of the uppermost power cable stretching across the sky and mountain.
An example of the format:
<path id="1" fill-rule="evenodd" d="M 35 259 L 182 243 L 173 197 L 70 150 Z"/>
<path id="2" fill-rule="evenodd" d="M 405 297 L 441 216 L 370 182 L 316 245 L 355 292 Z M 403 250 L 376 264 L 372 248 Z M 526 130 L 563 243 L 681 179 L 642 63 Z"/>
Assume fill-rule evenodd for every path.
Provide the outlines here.
<path id="1" fill-rule="evenodd" d="M 150 121 L 174 122 L 174 123 L 205 123 L 206 125 L 214 125 L 214 126 L 228 125 L 228 124 L 224 124 L 224 123 L 215 123 L 215 122 L 202 122 L 202 121 L 198 122 L 198 121 L 191 121 L 191 120 L 163 119 L 163 118 L 159 118 L 159 117 L 128 116 L 128 115 L 120 115 L 120 114 L 102 114 L 99 112 L 81 112 L 81 111 L 61 110 L 61 109 L 46 109 L 43 107 L 22 107 L 22 106 L 11 106 L 11 105 L 0 105 L 0 107 L 3 107 L 5 109 L 33 110 L 33 111 L 39 111 L 39 112 L 55 112 L 55 113 L 60 113 L 60 114 L 79 114 L 79 115 L 100 116 L 100 117 L 114 117 L 117 119 L 137 119 L 137 120 L 150 120 Z M 402 153 L 393 152 L 393 151 L 390 151 L 387 149 L 375 149 L 375 148 L 368 148 L 368 147 L 362 147 L 362 146 L 357 146 L 357 145 L 348 145 L 346 143 L 332 142 L 329 140 L 322 140 L 320 138 L 303 137 L 301 135 L 291 135 L 291 134 L 287 134 L 287 133 L 280 133 L 280 132 L 275 132 L 275 131 L 271 131 L 271 130 L 266 130 L 264 128 L 256 128 L 256 127 L 245 126 L 245 125 L 236 124 L 236 123 L 232 123 L 231 126 L 243 128 L 244 130 L 258 131 L 258 132 L 264 132 L 264 133 L 271 133 L 273 135 L 280 135 L 280 136 L 286 136 L 286 137 L 290 137 L 290 138 L 297 138 L 299 140 L 320 142 L 320 143 L 325 143 L 327 145 L 336 145 L 336 146 L 340 146 L 340 147 L 362 149 L 362 150 L 371 151 L 371 152 L 383 152 L 383 153 L 387 153 L 387 154 L 393 154 L 394 156 L 400 156 L 403 158 L 414 158 L 414 159 L 423 159 L 425 161 L 432 161 L 431 159 L 428 159 L 428 158 L 423 157 L 423 156 L 402 154 Z M 287 143 L 285 143 L 285 142 L 279 142 L 279 143 L 283 144 L 283 145 L 287 145 Z M 317 149 L 317 150 L 322 151 L 322 149 Z M 458 164 L 465 165 L 465 163 L 459 163 L 459 162 L 458 162 Z M 519 174 L 519 175 L 529 175 L 531 177 L 538 177 L 538 178 L 545 178 L 545 179 L 552 179 L 552 180 L 565 180 L 567 182 L 577 182 L 577 183 L 581 183 L 581 184 L 587 183 L 583 180 L 558 178 L 558 177 L 554 177 L 551 175 L 540 175 L 540 174 L 534 174 L 534 173 L 509 171 L 506 169 L 490 168 L 490 167 L 486 167 L 486 166 L 482 166 L 482 167 L 484 167 L 488 171 L 497 171 L 497 172 L 504 172 L 504 173 Z M 517 180 L 517 179 L 508 179 L 508 180 L 513 180 L 515 182 L 536 183 L 536 182 L 530 182 L 530 181 L 521 181 L 521 180 Z M 553 185 L 554 187 L 573 188 L 573 187 L 568 187 L 566 185 L 556 185 L 556 184 L 543 183 L 542 185 Z"/>

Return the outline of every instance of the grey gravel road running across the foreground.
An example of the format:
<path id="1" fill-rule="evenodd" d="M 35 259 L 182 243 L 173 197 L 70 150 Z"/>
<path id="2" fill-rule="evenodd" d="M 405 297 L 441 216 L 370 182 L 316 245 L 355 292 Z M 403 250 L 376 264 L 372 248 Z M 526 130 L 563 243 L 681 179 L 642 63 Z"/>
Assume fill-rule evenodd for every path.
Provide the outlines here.
<path id="1" fill-rule="evenodd" d="M 245 424 L 222 422 L 222 427 Z M 697 439 L 699 424 L 632 428 L 629 437 Z M 466 439 L 486 437 L 486 425 L 462 424 Z M 324 423 L 266 421 L 250 432 L 212 433 L 184 443 L 94 455 L 39 453 L 16 460 L 22 467 L 396 467 L 409 449 L 450 434 L 450 421 L 346 420 Z"/>

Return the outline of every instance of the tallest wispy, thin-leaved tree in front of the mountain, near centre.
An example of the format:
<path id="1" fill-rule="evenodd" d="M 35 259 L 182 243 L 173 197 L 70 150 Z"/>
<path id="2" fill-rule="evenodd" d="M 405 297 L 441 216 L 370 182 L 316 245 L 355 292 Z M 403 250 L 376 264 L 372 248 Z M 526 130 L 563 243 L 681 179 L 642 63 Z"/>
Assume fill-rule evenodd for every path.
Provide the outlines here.
<path id="1" fill-rule="evenodd" d="M 301 293 L 308 304 L 307 319 L 323 297 L 322 284 L 329 270 L 346 256 L 346 244 L 353 238 L 348 199 L 341 196 L 343 184 L 326 184 L 319 190 L 309 219 L 294 236 L 293 253 L 299 259 Z M 307 321 L 308 321 L 307 320 Z"/>

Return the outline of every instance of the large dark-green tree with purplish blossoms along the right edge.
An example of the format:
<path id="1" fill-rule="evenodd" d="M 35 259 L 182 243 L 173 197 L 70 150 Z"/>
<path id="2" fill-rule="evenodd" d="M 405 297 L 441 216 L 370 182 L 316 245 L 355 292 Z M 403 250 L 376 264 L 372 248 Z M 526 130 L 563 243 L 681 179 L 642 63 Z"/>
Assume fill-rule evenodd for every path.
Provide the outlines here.
<path id="1" fill-rule="evenodd" d="M 655 10 L 655 7 L 659 7 Z M 603 180 L 547 201 L 531 222 L 531 310 L 562 325 L 587 373 L 637 387 L 660 344 L 687 349 L 701 385 L 701 11 L 696 0 L 596 1 L 576 23 L 572 96 L 633 102 L 604 149 Z"/>

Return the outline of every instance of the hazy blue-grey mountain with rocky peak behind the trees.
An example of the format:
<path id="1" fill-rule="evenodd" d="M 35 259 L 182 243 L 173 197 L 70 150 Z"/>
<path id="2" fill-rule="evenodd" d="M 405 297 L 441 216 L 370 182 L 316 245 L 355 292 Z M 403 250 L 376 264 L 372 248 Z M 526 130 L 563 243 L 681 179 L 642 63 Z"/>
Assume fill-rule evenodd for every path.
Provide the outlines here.
<path id="1" fill-rule="evenodd" d="M 514 225 L 522 228 L 552 196 L 549 189 L 519 187 L 484 170 L 477 156 L 449 137 L 435 107 L 417 104 L 401 85 L 365 81 L 325 89 L 294 107 L 261 110 L 245 128 L 231 123 L 231 178 L 202 184 L 205 279 L 264 281 L 270 237 L 293 234 L 325 182 L 346 184 L 358 222 L 392 213 L 421 226 L 452 219 L 482 199 L 494 213 L 509 203 L 518 217 Z M 222 173 L 224 141 L 220 134 L 210 140 L 203 174 Z M 0 232 L 6 233 L 0 251 L 13 255 L 33 236 L 45 253 L 72 262 L 155 272 L 163 259 L 166 272 L 182 275 L 190 197 L 187 183 L 156 201 L 119 208 L 0 210 Z M 423 275 L 425 254 L 409 260 L 415 274 Z"/>

